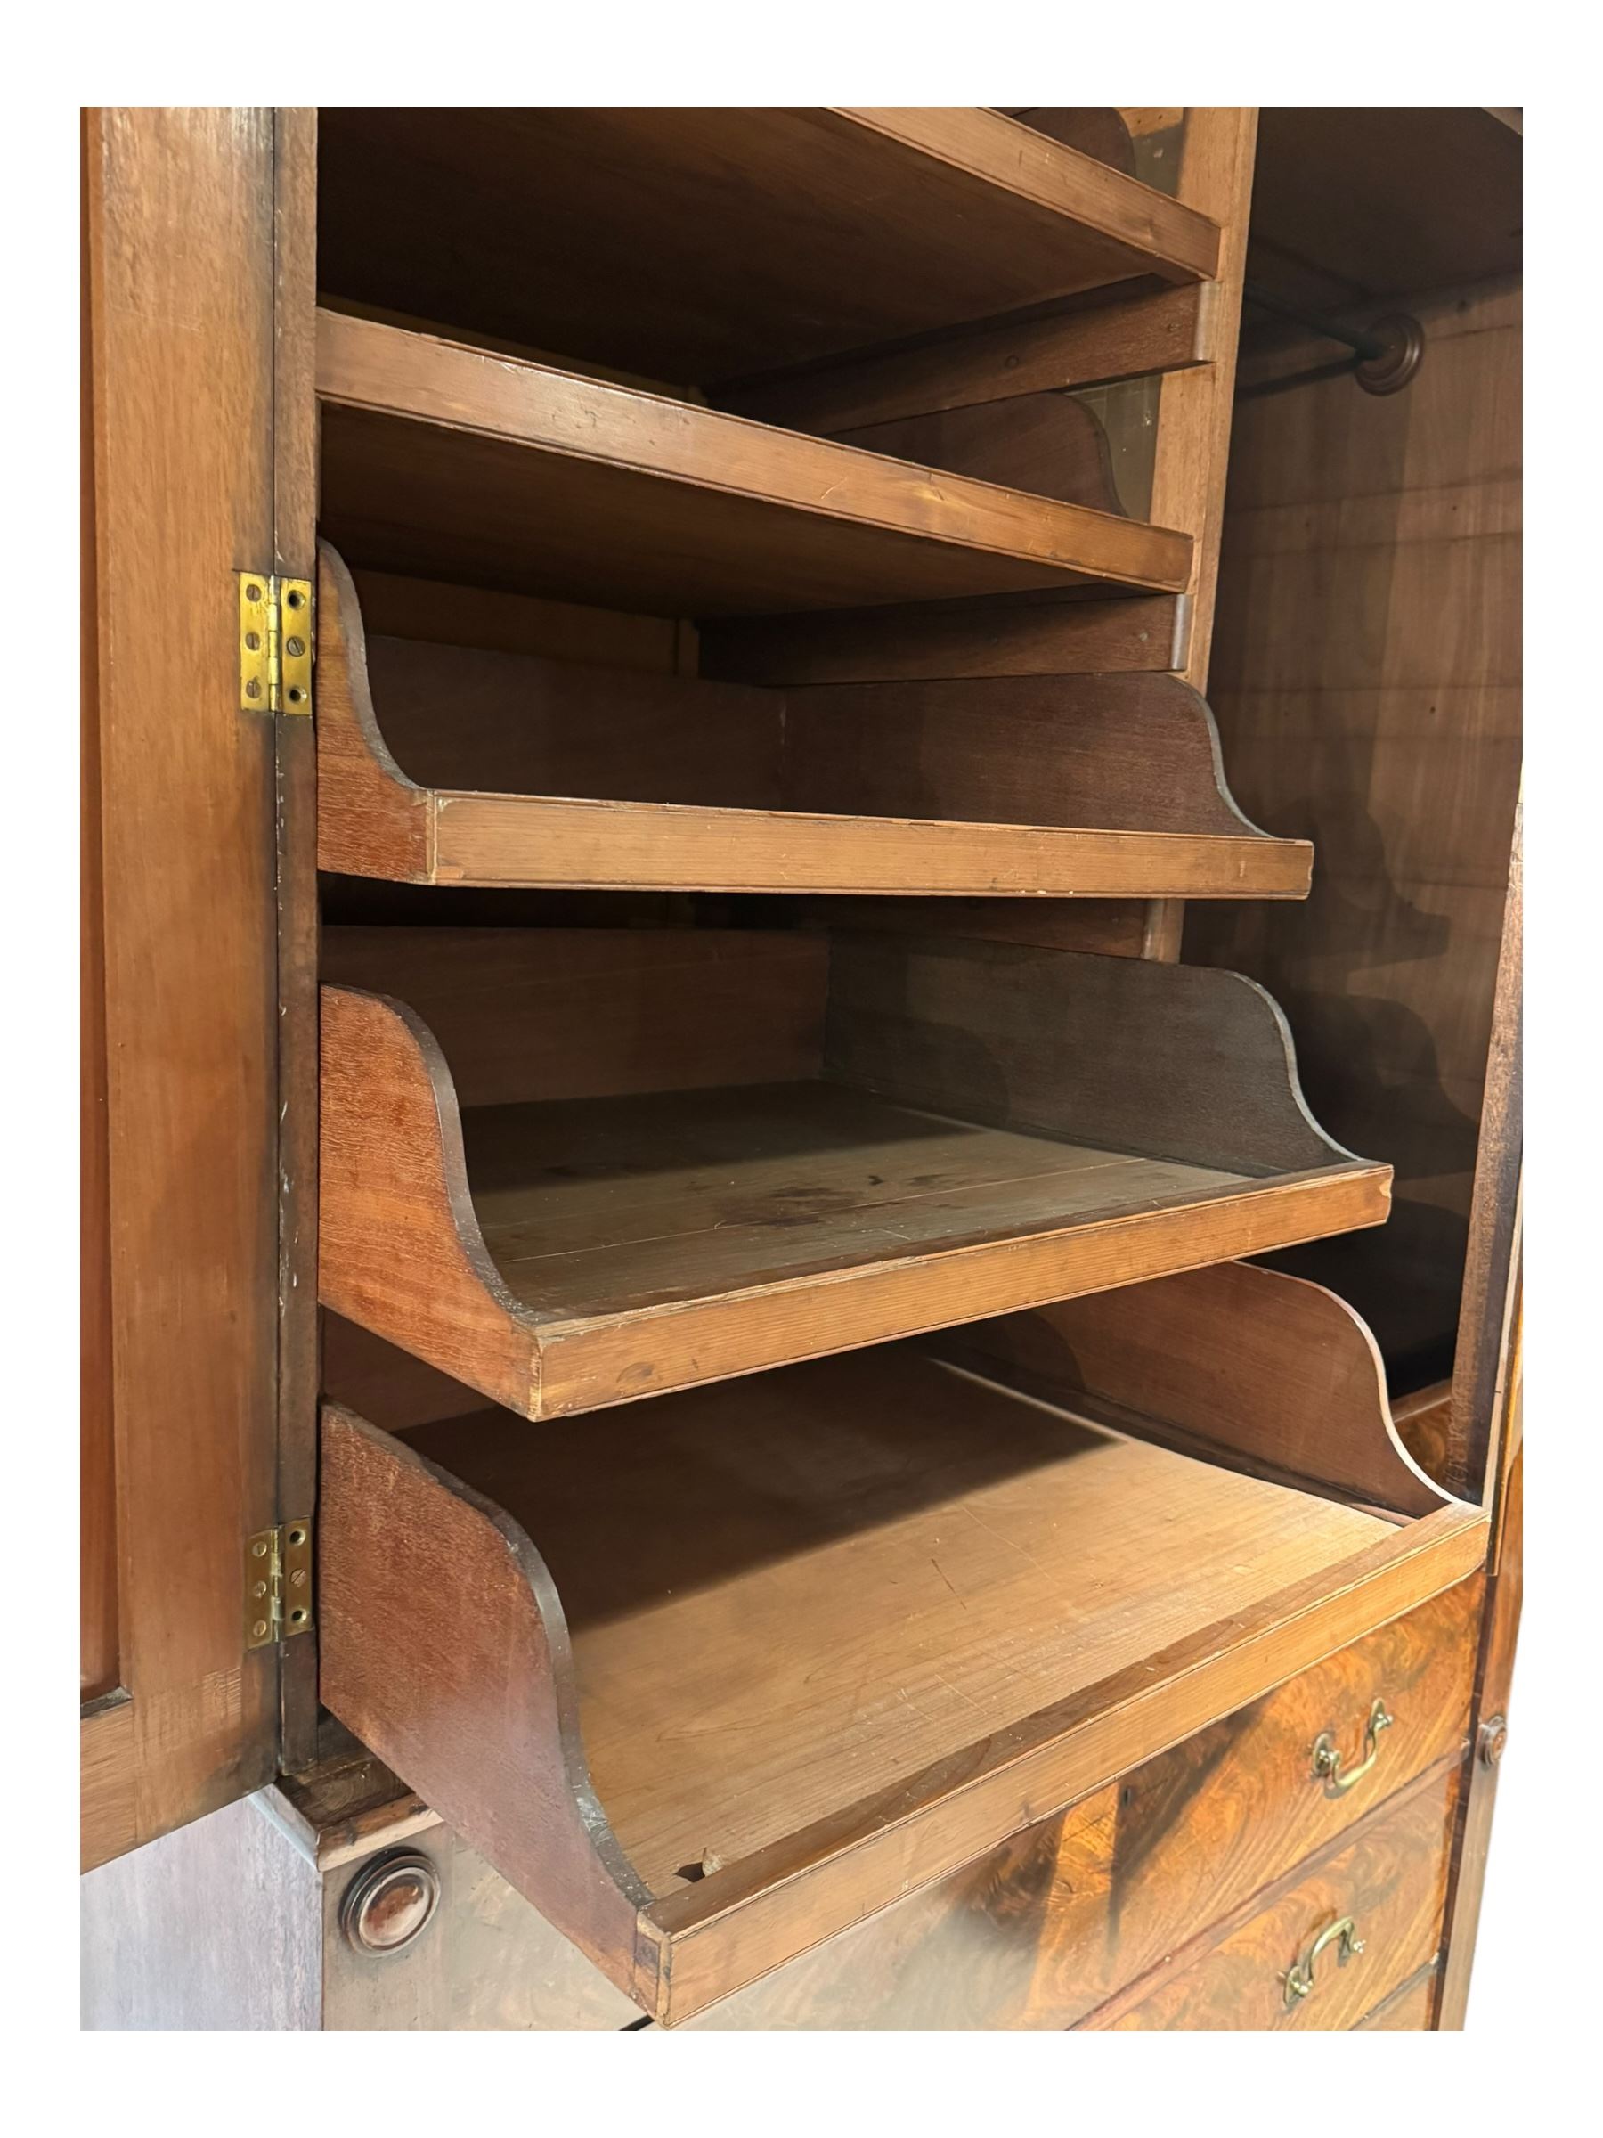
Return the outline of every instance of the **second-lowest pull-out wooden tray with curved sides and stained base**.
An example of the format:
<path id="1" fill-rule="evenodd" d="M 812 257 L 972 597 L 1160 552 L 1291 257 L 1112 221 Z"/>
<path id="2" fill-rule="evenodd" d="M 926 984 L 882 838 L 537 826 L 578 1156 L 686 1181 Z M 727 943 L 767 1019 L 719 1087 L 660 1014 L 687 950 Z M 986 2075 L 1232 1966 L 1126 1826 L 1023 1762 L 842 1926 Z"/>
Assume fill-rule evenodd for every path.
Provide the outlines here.
<path id="1" fill-rule="evenodd" d="M 1235 973 L 331 928 L 325 979 L 323 1302 L 528 1417 L 1387 1214 Z"/>

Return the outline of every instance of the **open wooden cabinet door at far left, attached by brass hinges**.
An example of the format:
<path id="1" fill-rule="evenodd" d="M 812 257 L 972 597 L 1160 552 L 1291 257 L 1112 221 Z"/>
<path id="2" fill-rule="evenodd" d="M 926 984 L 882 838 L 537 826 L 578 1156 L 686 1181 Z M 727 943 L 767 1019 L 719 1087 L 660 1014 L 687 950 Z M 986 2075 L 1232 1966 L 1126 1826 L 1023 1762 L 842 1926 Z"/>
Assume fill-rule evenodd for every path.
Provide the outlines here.
<path id="1" fill-rule="evenodd" d="M 274 569 L 274 282 L 271 111 L 85 113 L 85 1866 L 278 1753 L 276 723 L 235 586 Z"/>

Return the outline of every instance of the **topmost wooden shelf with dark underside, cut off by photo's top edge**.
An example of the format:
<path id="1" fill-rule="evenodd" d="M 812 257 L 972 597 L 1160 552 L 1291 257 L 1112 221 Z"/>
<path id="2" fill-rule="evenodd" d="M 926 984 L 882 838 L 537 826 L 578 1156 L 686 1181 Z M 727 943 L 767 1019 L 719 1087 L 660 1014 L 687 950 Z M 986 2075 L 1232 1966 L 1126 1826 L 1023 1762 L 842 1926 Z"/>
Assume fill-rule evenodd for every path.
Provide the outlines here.
<path id="1" fill-rule="evenodd" d="M 1205 216 L 994 111 L 318 118 L 325 291 L 680 385 L 1216 272 Z"/>

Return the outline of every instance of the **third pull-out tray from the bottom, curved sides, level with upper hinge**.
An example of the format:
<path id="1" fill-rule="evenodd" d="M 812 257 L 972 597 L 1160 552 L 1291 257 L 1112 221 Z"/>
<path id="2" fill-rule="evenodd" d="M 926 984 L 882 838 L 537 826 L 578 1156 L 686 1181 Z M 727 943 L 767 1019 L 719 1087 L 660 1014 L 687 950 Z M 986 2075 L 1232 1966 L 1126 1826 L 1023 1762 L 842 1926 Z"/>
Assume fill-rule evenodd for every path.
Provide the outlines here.
<path id="1" fill-rule="evenodd" d="M 767 691 L 370 639 L 327 545 L 318 648 L 318 859 L 342 874 L 1058 898 L 1308 892 L 1312 847 L 1240 815 L 1214 718 L 1178 676 Z"/>

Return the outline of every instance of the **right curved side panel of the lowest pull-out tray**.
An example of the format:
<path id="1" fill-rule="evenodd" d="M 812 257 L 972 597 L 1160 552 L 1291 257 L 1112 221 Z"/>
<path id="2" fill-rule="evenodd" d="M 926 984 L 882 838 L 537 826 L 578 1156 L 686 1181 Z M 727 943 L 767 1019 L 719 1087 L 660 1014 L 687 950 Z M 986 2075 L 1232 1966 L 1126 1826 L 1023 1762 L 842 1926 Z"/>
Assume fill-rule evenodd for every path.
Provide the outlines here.
<path id="1" fill-rule="evenodd" d="M 1359 1315 L 1280 1270 L 1220 1261 L 970 1323 L 940 1349 L 1099 1424 L 1327 1497 L 1409 1518 L 1462 1505 L 1402 1445 Z"/>

